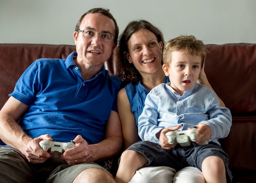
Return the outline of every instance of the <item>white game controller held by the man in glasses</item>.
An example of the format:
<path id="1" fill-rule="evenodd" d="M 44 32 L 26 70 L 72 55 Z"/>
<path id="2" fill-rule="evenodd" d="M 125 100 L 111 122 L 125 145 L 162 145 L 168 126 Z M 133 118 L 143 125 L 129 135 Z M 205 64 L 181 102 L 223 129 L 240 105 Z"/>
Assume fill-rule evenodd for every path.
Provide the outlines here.
<path id="1" fill-rule="evenodd" d="M 58 157 L 59 153 L 64 153 L 65 151 L 71 149 L 75 146 L 75 143 L 73 141 L 67 143 L 56 141 L 40 141 L 39 146 L 44 151 L 54 153 L 54 157 Z"/>

